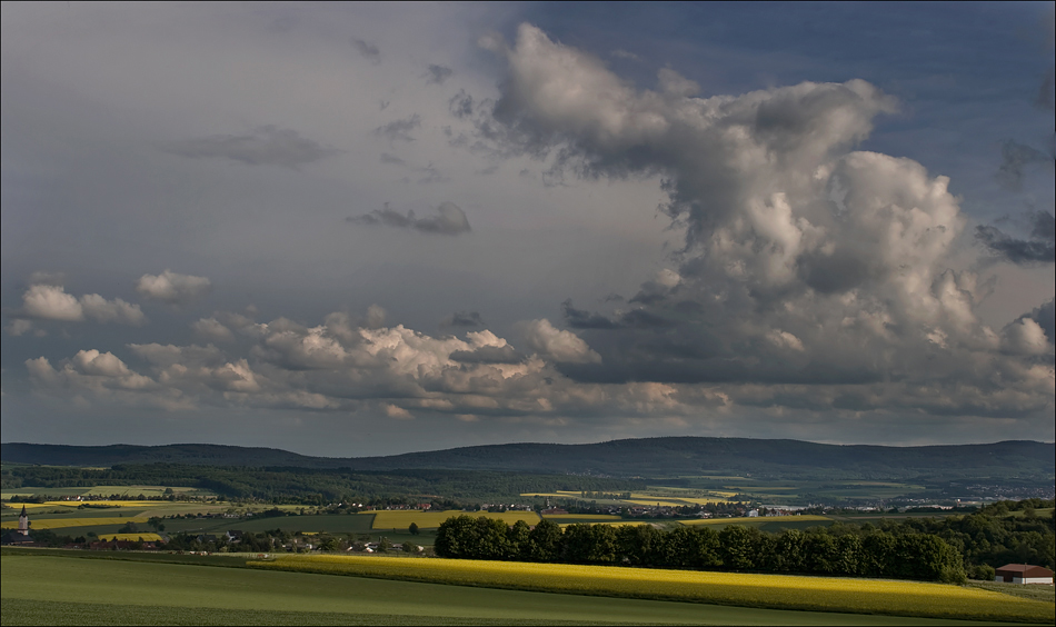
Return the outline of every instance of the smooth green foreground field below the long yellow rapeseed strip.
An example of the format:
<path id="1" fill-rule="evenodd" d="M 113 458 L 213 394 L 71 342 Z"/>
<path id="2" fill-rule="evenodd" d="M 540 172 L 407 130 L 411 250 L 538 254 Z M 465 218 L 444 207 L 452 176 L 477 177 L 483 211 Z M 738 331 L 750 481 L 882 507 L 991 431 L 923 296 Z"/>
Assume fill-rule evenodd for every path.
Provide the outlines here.
<path id="1" fill-rule="evenodd" d="M 2 554 L 3 625 L 984 624 L 19 553 Z M 223 560 L 241 561 L 202 563 Z"/>

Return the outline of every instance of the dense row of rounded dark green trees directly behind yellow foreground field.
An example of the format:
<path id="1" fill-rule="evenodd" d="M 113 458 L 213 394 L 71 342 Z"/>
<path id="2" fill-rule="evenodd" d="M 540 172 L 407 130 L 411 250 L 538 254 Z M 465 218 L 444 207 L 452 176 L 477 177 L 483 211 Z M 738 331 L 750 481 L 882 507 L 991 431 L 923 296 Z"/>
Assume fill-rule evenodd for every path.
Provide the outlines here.
<path id="1" fill-rule="evenodd" d="M 888 577 L 962 583 L 960 555 L 933 534 L 896 536 L 874 530 L 834 536 L 818 528 L 777 535 L 730 525 L 679 526 L 661 531 L 650 525 L 575 524 L 566 528 L 544 519 L 525 521 L 458 516 L 437 530 L 439 557 L 558 564 L 626 565 L 757 573 Z"/>

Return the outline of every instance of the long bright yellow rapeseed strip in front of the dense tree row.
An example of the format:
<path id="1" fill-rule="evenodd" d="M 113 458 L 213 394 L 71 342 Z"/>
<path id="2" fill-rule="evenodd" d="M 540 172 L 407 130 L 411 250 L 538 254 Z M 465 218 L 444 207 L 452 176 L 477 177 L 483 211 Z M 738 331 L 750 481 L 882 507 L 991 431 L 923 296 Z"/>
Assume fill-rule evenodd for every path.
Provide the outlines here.
<path id="1" fill-rule="evenodd" d="M 944 584 L 566 564 L 282 556 L 258 568 L 745 607 L 1052 623 L 1054 605 Z"/>

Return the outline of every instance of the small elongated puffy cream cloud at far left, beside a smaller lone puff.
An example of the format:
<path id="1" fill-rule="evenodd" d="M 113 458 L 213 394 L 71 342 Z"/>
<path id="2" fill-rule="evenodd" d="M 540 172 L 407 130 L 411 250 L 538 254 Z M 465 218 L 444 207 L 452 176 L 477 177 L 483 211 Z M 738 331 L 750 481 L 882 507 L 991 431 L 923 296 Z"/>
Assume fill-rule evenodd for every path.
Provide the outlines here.
<path id="1" fill-rule="evenodd" d="M 54 285 L 30 286 L 22 295 L 21 315 L 40 320 L 79 322 L 88 318 L 97 322 L 122 325 L 141 325 L 147 319 L 139 305 L 120 298 L 107 300 L 98 293 L 78 298 L 67 293 L 62 286 Z"/>

